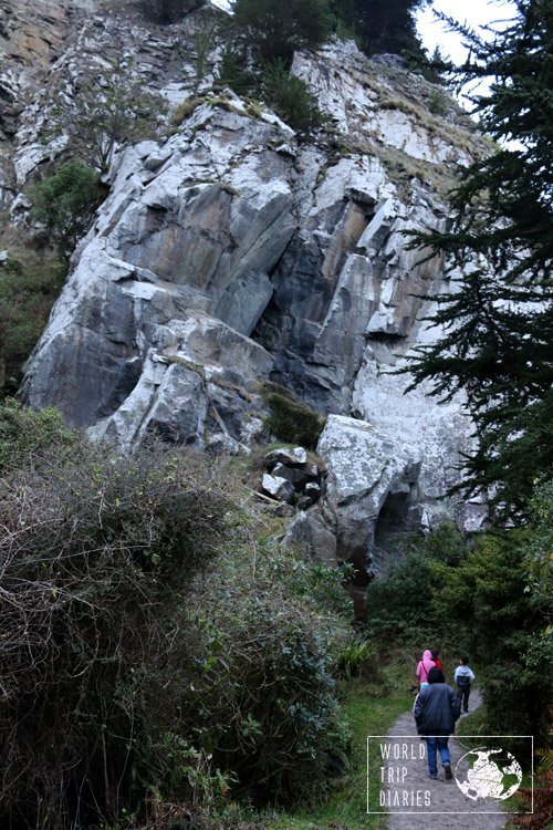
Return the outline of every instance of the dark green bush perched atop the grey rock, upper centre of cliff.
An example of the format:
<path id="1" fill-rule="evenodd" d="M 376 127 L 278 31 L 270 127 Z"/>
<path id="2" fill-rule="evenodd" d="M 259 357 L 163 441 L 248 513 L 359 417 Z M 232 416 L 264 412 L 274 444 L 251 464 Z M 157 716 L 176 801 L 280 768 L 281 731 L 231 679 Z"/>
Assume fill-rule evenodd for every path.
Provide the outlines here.
<path id="1" fill-rule="evenodd" d="M 268 104 L 292 129 L 304 133 L 322 123 L 315 96 L 307 90 L 304 81 L 286 72 L 281 60 L 265 66 L 263 95 Z"/>

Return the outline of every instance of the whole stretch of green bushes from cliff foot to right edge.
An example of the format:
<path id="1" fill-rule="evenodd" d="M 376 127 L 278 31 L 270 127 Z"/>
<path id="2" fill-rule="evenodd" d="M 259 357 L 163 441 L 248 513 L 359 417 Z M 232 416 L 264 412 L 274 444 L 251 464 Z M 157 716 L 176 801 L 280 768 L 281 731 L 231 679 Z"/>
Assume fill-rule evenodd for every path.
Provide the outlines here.
<path id="1" fill-rule="evenodd" d="M 367 591 L 371 634 L 440 645 L 478 666 L 490 735 L 547 741 L 553 671 L 551 504 L 542 483 L 523 530 L 489 531 L 468 547 L 453 527 L 414 537 Z M 505 705 L 509 689 L 509 705 Z"/>

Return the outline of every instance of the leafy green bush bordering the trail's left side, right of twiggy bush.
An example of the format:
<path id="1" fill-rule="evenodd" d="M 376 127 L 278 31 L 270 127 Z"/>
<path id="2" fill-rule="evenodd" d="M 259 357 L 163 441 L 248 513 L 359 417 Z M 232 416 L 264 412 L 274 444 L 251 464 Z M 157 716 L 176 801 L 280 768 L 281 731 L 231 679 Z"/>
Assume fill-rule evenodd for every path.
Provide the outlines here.
<path id="1" fill-rule="evenodd" d="M 184 718 L 255 801 L 320 798 L 346 762 L 332 671 L 349 640 L 351 605 L 336 614 L 344 592 L 331 569 L 324 596 L 314 596 L 309 564 L 270 543 L 253 553 L 221 560 L 196 598 L 199 647 L 182 678 L 194 688 Z"/>

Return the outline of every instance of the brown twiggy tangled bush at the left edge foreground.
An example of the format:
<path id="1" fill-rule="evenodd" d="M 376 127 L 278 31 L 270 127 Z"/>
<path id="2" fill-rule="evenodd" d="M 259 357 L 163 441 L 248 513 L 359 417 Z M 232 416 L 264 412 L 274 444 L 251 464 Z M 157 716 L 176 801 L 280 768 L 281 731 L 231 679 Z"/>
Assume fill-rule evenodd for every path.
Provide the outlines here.
<path id="1" fill-rule="evenodd" d="M 86 827 L 144 800 L 149 762 L 180 725 L 185 596 L 232 521 L 205 463 L 184 453 L 81 445 L 6 477 L 0 823 Z"/>

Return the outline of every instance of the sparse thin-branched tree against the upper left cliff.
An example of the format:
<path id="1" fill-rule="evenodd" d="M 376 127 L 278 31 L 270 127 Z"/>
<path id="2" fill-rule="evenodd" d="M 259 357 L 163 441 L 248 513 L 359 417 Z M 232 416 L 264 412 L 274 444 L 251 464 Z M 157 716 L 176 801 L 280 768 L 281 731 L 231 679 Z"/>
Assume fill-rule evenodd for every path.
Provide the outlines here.
<path id="1" fill-rule="evenodd" d="M 152 137 L 166 111 L 159 95 L 144 90 L 144 79 L 131 66 L 112 64 L 71 97 L 59 96 L 43 138 L 66 135 L 71 155 L 104 174 L 116 147 Z"/>

